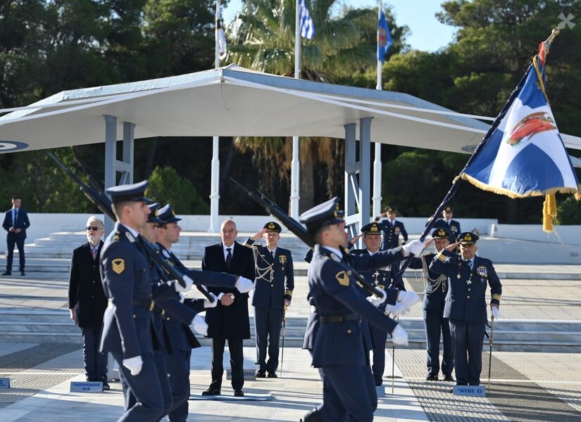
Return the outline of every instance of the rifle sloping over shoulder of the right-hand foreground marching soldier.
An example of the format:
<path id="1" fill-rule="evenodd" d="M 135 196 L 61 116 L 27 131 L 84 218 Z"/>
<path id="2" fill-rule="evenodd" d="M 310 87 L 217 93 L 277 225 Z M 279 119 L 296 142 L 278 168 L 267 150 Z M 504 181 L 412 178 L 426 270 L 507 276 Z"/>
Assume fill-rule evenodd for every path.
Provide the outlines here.
<path id="1" fill-rule="evenodd" d="M 230 180 L 234 184 L 236 184 L 236 186 L 241 188 L 242 191 L 246 192 L 248 196 L 252 198 L 256 203 L 261 205 L 264 208 L 264 210 L 268 212 L 268 214 L 279 219 L 280 222 L 287 229 L 292 231 L 292 233 L 296 237 L 301 239 L 301 241 L 304 241 L 304 243 L 306 243 L 306 245 L 309 248 L 315 247 L 316 242 L 315 239 L 313 239 L 313 236 L 311 236 L 311 234 L 309 234 L 308 231 L 306 231 L 302 224 L 297 222 L 296 219 L 290 217 L 284 210 L 282 210 L 282 208 L 277 203 L 274 203 L 264 193 L 258 191 L 258 189 L 255 189 L 255 192 L 249 191 L 244 186 L 242 186 L 242 184 L 239 184 L 238 181 L 232 179 L 232 177 L 230 177 Z M 356 269 L 351 267 L 351 265 L 349 264 L 346 265 L 347 267 L 349 267 L 349 269 L 351 269 L 351 275 L 355 277 L 355 279 L 363 288 L 368 290 L 369 293 L 372 293 L 373 295 L 377 296 L 377 298 L 381 298 L 383 296 L 382 293 L 373 286 L 373 284 L 369 283 L 369 281 L 367 281 L 366 279 L 363 279 L 363 277 L 358 274 Z"/>

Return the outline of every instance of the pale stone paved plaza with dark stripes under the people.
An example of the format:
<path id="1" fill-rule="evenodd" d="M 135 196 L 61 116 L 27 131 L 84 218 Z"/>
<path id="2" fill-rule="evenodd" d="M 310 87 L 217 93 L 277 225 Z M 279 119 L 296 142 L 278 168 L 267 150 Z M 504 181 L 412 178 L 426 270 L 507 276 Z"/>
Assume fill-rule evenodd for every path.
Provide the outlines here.
<path id="1" fill-rule="evenodd" d="M 0 260 L 0 266 L 3 264 Z M 199 262 L 189 264 L 197 267 Z M 308 314 L 306 264 L 297 263 L 296 267 L 301 275 L 296 278 L 289 317 L 301 320 Z M 456 397 L 449 392 L 451 383 L 424 381 L 425 351 L 420 346 L 395 351 L 392 393 L 392 348 L 388 343 L 386 395 L 379 400 L 376 421 L 581 420 L 581 354 L 575 347 L 581 338 L 581 268 L 499 264 L 496 269 L 504 285 L 502 322 L 568 324 L 566 340 L 547 343 L 544 339 L 551 335 L 547 331 L 527 334 L 518 333 L 518 326 L 507 329 L 507 341 L 513 342 L 515 351 L 500 346 L 500 350 L 494 350 L 491 388 L 485 398 Z M 405 281 L 408 288 L 421 293 L 421 283 L 413 271 L 406 273 Z M 11 378 L 11 388 L 0 390 L 1 422 L 116 421 L 123 410 L 118 383 L 111 383 L 109 392 L 69 392 L 70 381 L 83 381 L 84 374 L 80 333 L 65 317 L 67 286 L 67 271 L 27 271 L 26 277 L 0 279 L 0 376 Z M 33 319 L 35 313 L 49 315 Z M 60 315 L 60 319 L 49 321 L 51 313 Z M 420 317 L 420 305 L 416 305 L 402 321 L 420 324 Z M 25 319 L 38 322 L 22 328 Z M 528 335 L 523 338 L 530 341 L 527 350 L 531 351 L 518 350 L 514 344 L 518 335 Z M 554 351 L 546 352 L 549 346 Z M 487 382 L 487 351 L 485 346 L 483 383 Z M 254 368 L 254 355 L 254 347 L 244 348 L 246 368 Z M 225 368 L 228 359 L 225 352 Z M 192 353 L 194 396 L 207 388 L 210 360 L 207 345 Z M 299 347 L 285 348 L 282 370 L 282 378 L 247 381 L 244 385 L 247 393 L 272 394 L 272 401 L 192 400 L 189 420 L 298 421 L 321 400 L 318 372 L 311 368 L 308 353 Z M 228 381 L 223 383 L 223 392 L 230 394 Z"/>

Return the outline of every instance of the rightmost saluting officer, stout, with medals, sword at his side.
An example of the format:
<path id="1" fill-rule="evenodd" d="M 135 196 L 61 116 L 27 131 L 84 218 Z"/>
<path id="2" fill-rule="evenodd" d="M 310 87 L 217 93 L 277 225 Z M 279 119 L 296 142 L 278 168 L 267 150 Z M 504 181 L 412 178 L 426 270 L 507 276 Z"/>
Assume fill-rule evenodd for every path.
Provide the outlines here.
<path id="1" fill-rule="evenodd" d="M 468 231 L 439 251 L 430 269 L 448 278 L 444 317 L 449 318 L 456 360 L 456 385 L 480 385 L 485 335 L 486 289 L 490 286 L 492 316 L 500 316 L 502 286 L 490 260 L 476 255 L 479 236 Z M 450 252 L 460 244 L 460 255 Z"/>

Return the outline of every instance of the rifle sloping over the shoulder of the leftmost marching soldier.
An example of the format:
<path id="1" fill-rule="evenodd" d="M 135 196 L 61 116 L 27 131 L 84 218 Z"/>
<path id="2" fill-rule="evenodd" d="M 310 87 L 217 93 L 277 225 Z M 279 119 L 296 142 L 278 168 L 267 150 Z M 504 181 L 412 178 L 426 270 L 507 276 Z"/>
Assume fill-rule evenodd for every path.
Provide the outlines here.
<path id="1" fill-rule="evenodd" d="M 115 215 L 113 214 L 113 209 L 111 208 L 111 200 L 106 196 L 104 191 L 101 190 L 101 188 L 99 187 L 99 184 L 96 184 L 96 181 L 94 181 L 94 179 L 92 179 L 92 177 L 89 177 L 89 179 L 92 179 L 92 184 L 94 186 L 89 186 L 84 181 L 82 181 L 75 174 L 75 172 L 70 170 L 60 160 L 58 160 L 58 158 L 56 158 L 54 156 L 54 154 L 49 153 L 49 152 L 47 152 L 47 154 L 49 155 L 50 158 L 52 158 L 54 160 L 54 162 L 56 162 L 58 167 L 61 167 L 61 169 L 66 174 L 68 174 L 68 176 L 71 179 L 73 179 L 73 181 L 79 186 L 82 193 L 85 193 L 85 196 L 87 196 L 87 198 L 89 198 L 89 200 L 93 203 L 93 205 L 95 205 L 97 208 L 99 208 L 99 210 L 101 210 L 101 212 L 103 212 L 104 215 L 106 215 L 107 217 L 109 217 L 113 221 L 115 221 L 117 219 L 115 217 Z M 156 264 L 158 264 L 159 267 L 161 267 L 163 270 L 165 270 L 170 275 L 170 277 L 177 280 L 177 282 L 180 283 L 180 286 L 182 286 L 182 287 L 186 286 L 186 283 L 184 281 L 184 274 L 182 274 L 180 271 L 175 269 L 175 267 L 171 266 L 170 264 L 168 264 L 168 262 L 165 261 L 165 259 L 163 258 L 163 255 L 161 255 L 161 251 L 159 250 L 157 245 L 149 243 L 148 241 L 146 241 L 145 238 L 143 239 L 143 242 L 141 243 L 141 245 L 142 245 L 144 251 L 146 252 L 147 256 L 149 258 L 151 258 L 151 260 L 153 260 Z M 197 286 L 197 285 L 196 285 L 196 287 L 198 288 L 198 290 L 200 290 L 200 292 L 204 296 L 206 296 L 206 299 L 208 299 L 210 302 L 213 302 L 213 298 L 211 297 L 211 295 L 208 293 L 208 291 L 205 288 L 201 288 L 200 286 Z"/>

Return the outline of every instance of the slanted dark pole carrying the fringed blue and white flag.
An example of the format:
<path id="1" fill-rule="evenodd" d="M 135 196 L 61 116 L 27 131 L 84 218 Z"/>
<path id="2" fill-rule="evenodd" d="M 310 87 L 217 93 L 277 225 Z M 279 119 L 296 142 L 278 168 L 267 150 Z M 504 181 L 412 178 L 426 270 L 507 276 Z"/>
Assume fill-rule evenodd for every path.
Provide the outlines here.
<path id="1" fill-rule="evenodd" d="M 558 33 L 559 33 L 558 28 L 555 28 L 551 32 L 551 35 L 549 36 L 549 38 L 547 38 L 546 41 L 544 41 L 546 46 L 549 46 L 549 47 L 551 46 L 551 43 L 554 41 L 554 39 L 558 35 Z M 504 106 L 500 110 L 499 115 L 496 117 L 496 120 L 494 120 L 494 122 L 492 122 L 492 125 L 488 129 L 488 132 L 486 132 L 484 138 L 482 138 L 482 141 L 480 141 L 480 143 L 476 147 L 474 153 L 472 155 L 470 155 L 470 158 L 468 159 L 468 162 L 466 162 L 466 165 L 464 166 L 462 171 L 458 174 L 458 176 L 456 176 L 454 178 L 454 181 L 452 181 L 452 186 L 450 187 L 450 190 L 448 191 L 448 193 L 446 193 L 446 196 L 444 196 L 442 203 L 440 203 L 439 207 L 437 207 L 436 211 L 434 212 L 434 215 L 432 215 L 432 217 L 430 218 L 430 221 L 426 224 L 425 229 L 423 231 L 423 234 L 422 234 L 422 236 L 420 236 L 420 241 L 422 241 L 422 242 L 425 241 L 427 234 L 430 233 L 430 230 L 432 229 L 434 224 L 436 224 L 437 216 L 442 214 L 442 211 L 444 210 L 444 207 L 446 207 L 446 204 L 449 203 L 452 200 L 452 198 L 454 198 L 454 195 L 456 195 L 456 191 L 458 190 L 458 186 L 460 184 L 460 181 L 462 180 L 461 175 L 464 172 L 466 172 L 466 169 L 468 168 L 468 166 L 474 161 L 474 159 L 477 157 L 477 155 L 480 153 L 480 151 L 482 151 L 482 148 L 485 147 L 490 136 L 492 136 L 492 134 L 494 133 L 494 130 L 496 130 L 496 127 L 498 127 L 500 122 L 504 119 L 504 116 L 508 112 L 508 109 L 511 108 L 511 105 L 512 105 L 514 99 L 516 98 L 516 96 L 518 96 L 520 89 L 525 84 L 527 77 L 529 75 L 529 72 L 531 72 L 532 70 L 534 70 L 534 65 L 531 64 L 527 68 L 525 75 L 523 75 L 523 77 L 520 78 L 520 81 L 518 82 L 516 88 L 511 93 L 511 96 L 508 98 L 508 101 L 506 101 L 506 103 L 504 103 Z M 411 260 L 413 260 L 413 255 L 409 255 L 406 258 L 404 263 L 401 265 L 401 268 L 399 269 L 397 276 L 403 276 L 404 271 L 406 271 L 406 268 L 408 267 Z"/>

